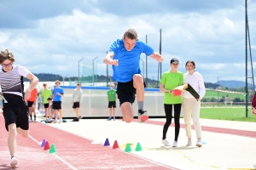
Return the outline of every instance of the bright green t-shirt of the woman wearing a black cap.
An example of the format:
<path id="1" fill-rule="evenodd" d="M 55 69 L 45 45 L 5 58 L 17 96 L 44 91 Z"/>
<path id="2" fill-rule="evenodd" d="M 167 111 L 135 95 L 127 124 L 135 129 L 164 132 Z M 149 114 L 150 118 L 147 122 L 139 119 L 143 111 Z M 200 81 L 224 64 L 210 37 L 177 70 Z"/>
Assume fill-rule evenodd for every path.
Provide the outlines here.
<path id="1" fill-rule="evenodd" d="M 183 84 L 183 73 L 181 71 L 177 71 L 173 73 L 172 71 L 166 71 L 160 80 L 161 84 L 165 85 L 167 90 L 173 90 L 178 86 Z M 174 96 L 173 94 L 165 93 L 164 95 L 164 104 L 181 104 L 182 98 L 181 96 Z"/>

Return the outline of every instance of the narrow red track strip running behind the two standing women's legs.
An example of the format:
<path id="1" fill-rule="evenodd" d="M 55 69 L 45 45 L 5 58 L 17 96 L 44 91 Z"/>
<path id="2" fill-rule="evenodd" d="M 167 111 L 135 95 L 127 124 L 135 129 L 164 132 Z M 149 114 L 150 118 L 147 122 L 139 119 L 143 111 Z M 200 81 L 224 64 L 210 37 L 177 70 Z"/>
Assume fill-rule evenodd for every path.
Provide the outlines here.
<path id="1" fill-rule="evenodd" d="M 134 122 L 137 122 L 137 120 L 134 120 Z M 164 126 L 166 122 L 149 121 L 148 120 L 147 122 L 143 122 L 143 123 Z M 171 127 L 174 127 L 174 123 L 171 124 Z M 184 128 L 185 125 L 181 123 L 180 127 Z M 195 129 L 194 125 L 192 125 L 191 128 Z M 208 132 L 212 132 L 212 133 L 228 133 L 228 134 L 234 134 L 234 135 L 239 135 L 239 136 L 246 136 L 246 137 L 256 138 L 256 132 L 255 131 L 237 130 L 237 129 L 221 128 L 221 127 L 206 127 L 206 126 L 201 126 L 201 129 L 203 131 L 208 131 Z"/>

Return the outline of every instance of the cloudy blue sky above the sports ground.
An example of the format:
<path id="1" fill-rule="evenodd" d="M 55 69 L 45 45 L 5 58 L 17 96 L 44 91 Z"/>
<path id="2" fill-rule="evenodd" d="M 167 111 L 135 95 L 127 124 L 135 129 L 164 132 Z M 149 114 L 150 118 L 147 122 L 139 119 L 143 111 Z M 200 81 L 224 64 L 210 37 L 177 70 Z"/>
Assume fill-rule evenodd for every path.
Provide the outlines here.
<path id="1" fill-rule="evenodd" d="M 255 4 L 248 1 L 251 35 Z M 205 82 L 245 81 L 244 0 L 0 0 L 0 23 L 0 49 L 9 48 L 15 64 L 32 73 L 107 75 L 103 59 L 110 45 L 133 28 L 157 53 L 161 30 L 161 73 L 170 71 L 175 57 L 183 72 L 186 61 L 194 60 Z M 254 42 L 252 36 L 252 53 Z M 141 55 L 143 77 L 146 57 Z M 157 80 L 159 63 L 150 57 L 147 63 L 148 78 Z"/>

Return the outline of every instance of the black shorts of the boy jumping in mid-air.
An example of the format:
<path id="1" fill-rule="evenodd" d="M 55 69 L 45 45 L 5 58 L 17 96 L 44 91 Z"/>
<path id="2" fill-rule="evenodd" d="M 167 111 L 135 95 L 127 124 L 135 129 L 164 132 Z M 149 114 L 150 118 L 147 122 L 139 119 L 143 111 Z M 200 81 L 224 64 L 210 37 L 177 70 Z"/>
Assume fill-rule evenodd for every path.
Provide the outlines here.
<path id="1" fill-rule="evenodd" d="M 143 82 L 145 88 L 145 81 Z M 133 87 L 133 80 L 131 80 L 130 82 L 118 82 L 116 93 L 118 94 L 120 105 L 125 102 L 130 102 L 131 104 L 133 104 L 136 94 L 136 88 Z"/>

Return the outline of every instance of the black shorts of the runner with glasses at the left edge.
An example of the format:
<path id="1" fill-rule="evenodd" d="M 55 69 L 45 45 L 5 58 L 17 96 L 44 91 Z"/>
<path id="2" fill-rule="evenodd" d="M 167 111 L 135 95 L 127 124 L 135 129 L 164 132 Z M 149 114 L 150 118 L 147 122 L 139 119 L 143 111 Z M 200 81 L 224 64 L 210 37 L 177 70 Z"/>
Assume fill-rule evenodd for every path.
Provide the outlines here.
<path id="1" fill-rule="evenodd" d="M 8 131 L 8 126 L 12 123 L 16 124 L 16 127 L 20 127 L 23 130 L 28 130 L 28 107 L 25 102 L 21 103 L 3 103 L 3 116 L 5 122 L 5 128 Z"/>

